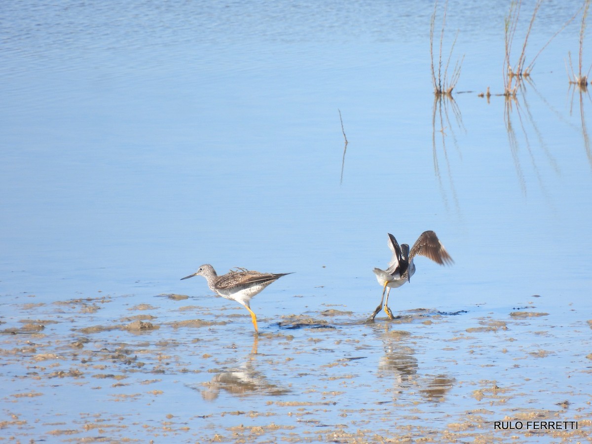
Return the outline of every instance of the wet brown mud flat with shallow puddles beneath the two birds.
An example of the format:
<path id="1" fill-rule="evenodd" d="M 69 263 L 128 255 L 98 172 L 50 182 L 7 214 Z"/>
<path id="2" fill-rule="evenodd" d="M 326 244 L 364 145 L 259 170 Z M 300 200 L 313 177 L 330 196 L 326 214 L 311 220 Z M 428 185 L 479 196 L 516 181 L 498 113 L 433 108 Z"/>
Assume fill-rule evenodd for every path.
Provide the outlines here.
<path id="1" fill-rule="evenodd" d="M 590 439 L 592 320 L 573 306 L 531 298 L 366 324 L 318 305 L 261 316 L 255 336 L 219 298 L 12 299 L 0 441 Z"/>

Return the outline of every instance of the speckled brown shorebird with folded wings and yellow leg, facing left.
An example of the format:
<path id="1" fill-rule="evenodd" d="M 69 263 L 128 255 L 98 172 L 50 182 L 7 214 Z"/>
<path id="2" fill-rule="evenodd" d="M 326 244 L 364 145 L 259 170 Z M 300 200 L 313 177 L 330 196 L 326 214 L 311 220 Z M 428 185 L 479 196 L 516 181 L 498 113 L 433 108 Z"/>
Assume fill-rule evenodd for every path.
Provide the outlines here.
<path id="1" fill-rule="evenodd" d="M 204 276 L 205 280 L 208 281 L 208 287 L 210 287 L 211 291 L 223 298 L 237 301 L 237 303 L 249 310 L 253 326 L 255 327 L 255 333 L 258 333 L 257 317 L 249 306 L 250 300 L 269 284 L 289 274 L 291 273 L 259 273 L 258 271 L 239 268 L 238 271 L 231 270 L 225 275 L 218 276 L 214 267 L 206 263 L 200 266 L 194 274 L 185 276 L 181 280 L 192 278 L 193 276 Z"/>

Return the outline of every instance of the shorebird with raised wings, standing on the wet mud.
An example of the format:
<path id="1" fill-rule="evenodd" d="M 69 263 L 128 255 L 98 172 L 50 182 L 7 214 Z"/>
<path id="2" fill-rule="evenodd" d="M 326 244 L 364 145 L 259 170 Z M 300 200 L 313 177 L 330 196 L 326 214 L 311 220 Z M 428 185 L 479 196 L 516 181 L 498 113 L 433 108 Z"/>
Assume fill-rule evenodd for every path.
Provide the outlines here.
<path id="1" fill-rule="evenodd" d="M 384 301 L 384 292 L 387 287 L 388 292 L 387 299 L 384 301 L 384 311 L 389 319 L 394 319 L 391 309 L 388 308 L 388 295 L 391 288 L 401 287 L 405 282 L 411 281 L 411 276 L 415 273 L 414 256 L 426 256 L 426 258 L 430 258 L 440 265 L 454 262 L 433 231 L 424 231 L 415 241 L 411 250 L 409 250 L 406 243 L 399 246 L 397 239 L 391 233 L 388 233 L 388 247 L 392 251 L 392 258 L 388 263 L 388 268 L 386 271 L 380 268 L 374 269 L 378 284 L 382 285 L 382 298 L 368 321 L 374 321 L 378 312 L 383 308 L 382 301 Z"/>

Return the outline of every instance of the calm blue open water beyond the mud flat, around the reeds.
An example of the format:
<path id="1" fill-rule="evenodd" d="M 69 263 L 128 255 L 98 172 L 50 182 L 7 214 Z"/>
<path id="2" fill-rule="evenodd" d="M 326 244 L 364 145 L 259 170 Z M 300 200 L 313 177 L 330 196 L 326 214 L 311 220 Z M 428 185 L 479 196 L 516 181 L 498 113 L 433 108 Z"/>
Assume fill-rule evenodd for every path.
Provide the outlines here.
<path id="1" fill-rule="evenodd" d="M 527 63 L 579 7 L 543 5 Z M 417 260 L 394 309 L 469 311 L 446 322 L 456 332 L 540 295 L 552 316 L 533 322 L 573 325 L 557 341 L 585 356 L 592 100 L 565 72 L 580 18 L 508 108 L 477 96 L 503 91 L 507 8 L 449 3 L 445 57 L 458 29 L 452 63 L 465 58 L 455 102 L 435 104 L 432 2 L 2 2 L 0 320 L 26 316 L 27 295 L 157 305 L 174 292 L 216 313 L 227 302 L 204 281 L 179 281 L 201 263 L 296 272 L 253 301 L 264 326 L 328 304 L 361 320 L 387 233 L 430 229 L 455 265 Z M 232 320 L 218 334 L 250 333 Z"/>

